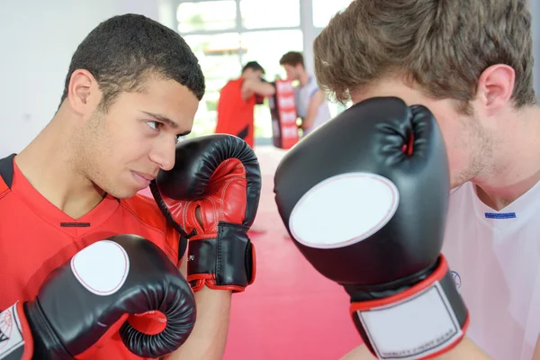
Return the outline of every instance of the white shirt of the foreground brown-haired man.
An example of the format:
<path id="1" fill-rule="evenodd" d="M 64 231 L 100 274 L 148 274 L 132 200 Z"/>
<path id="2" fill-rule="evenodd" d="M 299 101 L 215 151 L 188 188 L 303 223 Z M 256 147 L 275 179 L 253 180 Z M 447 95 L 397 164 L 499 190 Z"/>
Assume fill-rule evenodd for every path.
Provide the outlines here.
<path id="1" fill-rule="evenodd" d="M 469 309 L 467 336 L 496 360 L 532 360 L 540 335 L 540 183 L 494 211 L 450 195 L 443 254 Z"/>

